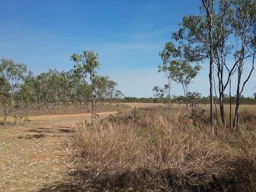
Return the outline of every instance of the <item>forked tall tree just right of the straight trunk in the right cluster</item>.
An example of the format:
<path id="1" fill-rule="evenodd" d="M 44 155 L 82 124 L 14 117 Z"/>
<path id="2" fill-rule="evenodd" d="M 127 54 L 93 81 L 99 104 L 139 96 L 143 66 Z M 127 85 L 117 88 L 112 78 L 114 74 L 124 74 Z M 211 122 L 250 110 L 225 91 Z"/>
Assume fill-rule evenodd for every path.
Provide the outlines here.
<path id="1" fill-rule="evenodd" d="M 234 49 L 231 43 L 233 35 L 232 22 L 234 9 L 232 1 L 222 0 L 218 3 L 218 14 L 214 14 L 214 58 L 213 63 L 217 68 L 219 106 L 222 125 L 225 124 L 224 97 L 225 90 L 231 82 L 231 77 L 236 71 L 237 63 L 228 65 L 227 57 L 230 56 Z"/>

